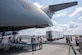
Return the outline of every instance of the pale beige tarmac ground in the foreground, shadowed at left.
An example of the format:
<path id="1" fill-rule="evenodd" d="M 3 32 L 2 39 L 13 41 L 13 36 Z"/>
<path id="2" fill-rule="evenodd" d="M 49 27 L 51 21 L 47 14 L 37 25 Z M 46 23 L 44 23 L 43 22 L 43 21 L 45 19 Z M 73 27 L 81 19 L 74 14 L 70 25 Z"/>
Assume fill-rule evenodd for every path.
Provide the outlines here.
<path id="1" fill-rule="evenodd" d="M 77 48 L 74 40 L 72 45 L 77 53 L 77 55 L 82 55 L 77 51 Z M 70 54 L 69 54 L 70 53 Z M 1 52 L 0 55 L 74 55 L 72 48 L 66 43 L 65 39 L 56 40 L 53 42 L 47 41 L 46 44 L 43 44 L 43 49 L 39 50 L 37 47 L 36 51 L 30 50 L 9 50 L 6 52 Z"/>

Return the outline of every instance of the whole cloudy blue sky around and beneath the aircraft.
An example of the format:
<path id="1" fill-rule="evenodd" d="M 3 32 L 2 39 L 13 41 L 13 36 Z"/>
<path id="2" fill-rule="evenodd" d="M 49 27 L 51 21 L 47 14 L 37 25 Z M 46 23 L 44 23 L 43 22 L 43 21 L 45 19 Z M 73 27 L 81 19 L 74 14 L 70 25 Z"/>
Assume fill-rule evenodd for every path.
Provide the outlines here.
<path id="1" fill-rule="evenodd" d="M 53 30 L 66 35 L 82 35 L 82 0 L 29 0 L 37 7 L 46 5 L 78 1 L 78 5 L 55 12 L 51 18 L 52 27 L 32 28 L 19 31 L 21 34 L 46 34 L 45 31 Z"/>

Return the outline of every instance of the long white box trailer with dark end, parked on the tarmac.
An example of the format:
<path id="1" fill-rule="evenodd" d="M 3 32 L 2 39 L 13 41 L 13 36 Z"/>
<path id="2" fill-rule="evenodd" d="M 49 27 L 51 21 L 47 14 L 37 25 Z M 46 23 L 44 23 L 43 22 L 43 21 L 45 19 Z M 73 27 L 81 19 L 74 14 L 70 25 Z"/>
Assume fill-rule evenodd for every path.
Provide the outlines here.
<path id="1" fill-rule="evenodd" d="M 53 40 L 64 38 L 64 34 L 58 31 L 47 31 L 46 36 L 47 36 L 48 41 L 53 41 Z"/>

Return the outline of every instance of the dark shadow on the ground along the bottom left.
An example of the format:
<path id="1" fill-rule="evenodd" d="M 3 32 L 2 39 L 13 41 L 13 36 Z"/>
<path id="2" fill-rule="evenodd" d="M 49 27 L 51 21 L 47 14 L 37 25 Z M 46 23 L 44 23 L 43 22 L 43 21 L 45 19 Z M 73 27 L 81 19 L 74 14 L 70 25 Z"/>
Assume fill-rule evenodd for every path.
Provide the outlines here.
<path id="1" fill-rule="evenodd" d="M 40 49 L 36 49 L 37 50 L 40 50 Z M 9 50 L 6 50 L 6 51 L 3 51 L 3 50 L 0 50 L 0 55 L 18 55 L 18 54 L 21 54 L 21 53 L 29 53 L 29 52 L 34 52 L 32 51 L 31 49 L 16 49 L 16 48 L 11 48 Z"/>

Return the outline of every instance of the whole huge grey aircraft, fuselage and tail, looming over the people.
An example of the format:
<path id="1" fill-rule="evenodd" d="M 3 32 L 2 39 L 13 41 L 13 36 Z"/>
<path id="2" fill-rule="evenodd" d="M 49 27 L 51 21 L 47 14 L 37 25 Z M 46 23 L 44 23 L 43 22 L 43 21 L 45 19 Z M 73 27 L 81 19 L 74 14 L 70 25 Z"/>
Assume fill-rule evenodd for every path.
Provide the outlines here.
<path id="1" fill-rule="evenodd" d="M 52 26 L 54 12 L 77 5 L 77 1 L 41 9 L 28 0 L 0 0 L 0 32 Z"/>

